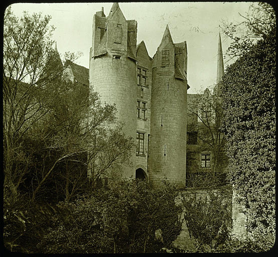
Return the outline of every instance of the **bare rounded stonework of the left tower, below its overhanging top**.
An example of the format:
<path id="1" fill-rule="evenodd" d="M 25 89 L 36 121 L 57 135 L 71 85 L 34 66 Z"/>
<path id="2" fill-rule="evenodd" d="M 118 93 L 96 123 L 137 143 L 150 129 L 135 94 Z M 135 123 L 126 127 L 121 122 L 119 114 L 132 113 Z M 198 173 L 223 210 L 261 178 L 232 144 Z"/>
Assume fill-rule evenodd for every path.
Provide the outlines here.
<path id="1" fill-rule="evenodd" d="M 122 55 L 107 54 L 90 63 L 90 86 L 104 103 L 116 104 L 116 116 L 124 122 L 124 132 L 136 141 L 136 63 Z M 123 165 L 124 177 L 135 178 L 135 149 L 130 165 Z"/>

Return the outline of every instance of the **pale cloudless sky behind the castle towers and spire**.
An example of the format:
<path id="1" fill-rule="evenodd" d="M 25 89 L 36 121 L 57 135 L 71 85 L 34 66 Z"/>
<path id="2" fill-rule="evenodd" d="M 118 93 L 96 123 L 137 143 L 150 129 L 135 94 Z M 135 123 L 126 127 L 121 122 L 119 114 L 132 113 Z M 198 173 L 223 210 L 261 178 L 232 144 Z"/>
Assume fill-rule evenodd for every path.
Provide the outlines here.
<path id="1" fill-rule="evenodd" d="M 154 2 L 119 3 L 126 20 L 137 21 L 137 44 L 145 42 L 150 57 L 159 46 L 168 24 L 174 43 L 186 41 L 188 52 L 188 93 L 199 93 L 216 82 L 218 25 L 221 21 L 242 21 L 251 3 L 248 2 Z M 51 15 L 56 27 L 53 40 L 61 55 L 82 52 L 76 63 L 89 68 L 92 44 L 92 22 L 96 12 L 104 8 L 107 16 L 112 3 L 13 4 L 12 11 L 21 16 L 23 11 Z M 221 34 L 225 54 L 230 41 Z M 227 63 L 224 57 L 224 66 Z"/>

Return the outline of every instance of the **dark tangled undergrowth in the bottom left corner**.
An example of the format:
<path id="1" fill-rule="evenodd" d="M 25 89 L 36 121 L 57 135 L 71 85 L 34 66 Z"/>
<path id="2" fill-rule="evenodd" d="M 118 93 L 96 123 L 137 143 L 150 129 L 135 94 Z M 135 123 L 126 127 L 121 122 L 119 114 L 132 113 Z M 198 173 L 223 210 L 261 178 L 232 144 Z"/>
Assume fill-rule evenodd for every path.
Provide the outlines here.
<path id="1" fill-rule="evenodd" d="M 19 194 L 18 199 L 13 200 L 12 195 L 5 192 L 3 239 L 6 249 L 36 252 L 37 243 L 51 225 L 56 211 L 50 204 L 30 202 L 26 195 Z"/>

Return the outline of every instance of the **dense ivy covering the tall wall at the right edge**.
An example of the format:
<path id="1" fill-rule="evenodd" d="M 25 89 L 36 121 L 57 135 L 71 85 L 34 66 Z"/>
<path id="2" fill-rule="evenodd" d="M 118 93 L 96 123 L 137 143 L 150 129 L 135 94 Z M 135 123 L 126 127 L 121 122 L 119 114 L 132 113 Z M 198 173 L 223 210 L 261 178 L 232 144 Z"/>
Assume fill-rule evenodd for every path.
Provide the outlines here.
<path id="1" fill-rule="evenodd" d="M 228 179 L 247 207 L 254 236 L 275 231 L 275 58 L 273 28 L 222 78 Z"/>

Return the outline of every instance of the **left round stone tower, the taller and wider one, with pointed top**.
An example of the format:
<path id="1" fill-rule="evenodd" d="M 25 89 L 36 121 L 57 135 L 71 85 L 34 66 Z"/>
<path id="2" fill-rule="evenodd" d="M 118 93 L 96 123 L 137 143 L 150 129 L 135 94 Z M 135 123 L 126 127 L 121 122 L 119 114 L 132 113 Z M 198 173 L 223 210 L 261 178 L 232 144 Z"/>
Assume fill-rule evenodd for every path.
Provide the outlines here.
<path id="1" fill-rule="evenodd" d="M 136 141 L 136 37 L 137 22 L 127 21 L 114 3 L 108 17 L 103 9 L 94 15 L 90 50 L 89 80 L 91 90 L 101 101 L 116 104 L 117 117 L 124 122 L 126 136 Z M 135 177 L 135 150 L 130 164 L 123 164 L 124 177 Z"/>

